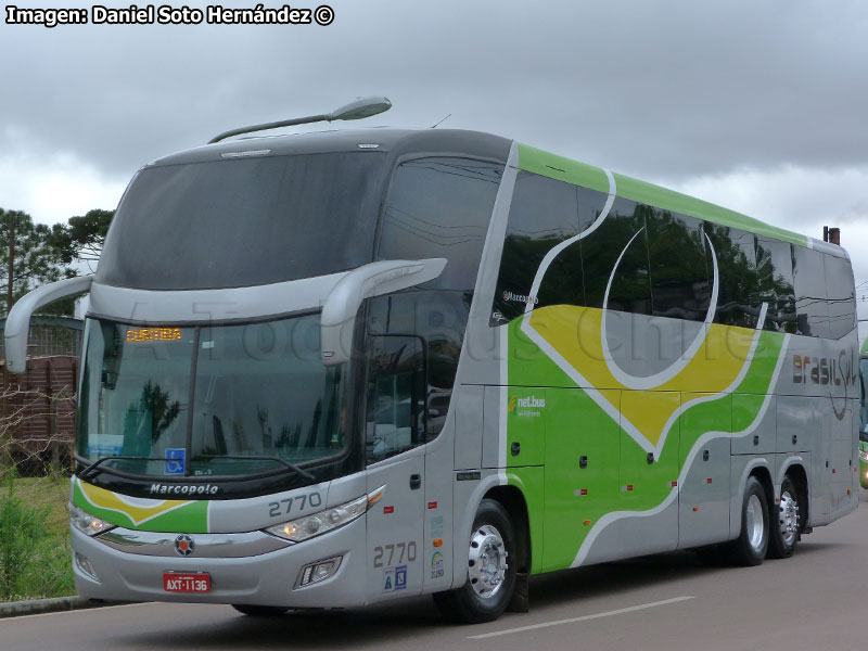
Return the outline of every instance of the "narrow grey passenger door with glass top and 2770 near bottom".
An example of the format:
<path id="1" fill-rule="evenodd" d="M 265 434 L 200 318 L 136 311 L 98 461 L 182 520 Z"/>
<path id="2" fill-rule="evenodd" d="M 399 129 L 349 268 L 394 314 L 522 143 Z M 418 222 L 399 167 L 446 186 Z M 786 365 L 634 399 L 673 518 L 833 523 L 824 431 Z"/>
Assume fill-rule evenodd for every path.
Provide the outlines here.
<path id="1" fill-rule="evenodd" d="M 379 601 L 422 590 L 427 384 L 420 337 L 372 335 L 368 352 L 368 489 L 385 486 L 368 513 L 368 595 Z"/>

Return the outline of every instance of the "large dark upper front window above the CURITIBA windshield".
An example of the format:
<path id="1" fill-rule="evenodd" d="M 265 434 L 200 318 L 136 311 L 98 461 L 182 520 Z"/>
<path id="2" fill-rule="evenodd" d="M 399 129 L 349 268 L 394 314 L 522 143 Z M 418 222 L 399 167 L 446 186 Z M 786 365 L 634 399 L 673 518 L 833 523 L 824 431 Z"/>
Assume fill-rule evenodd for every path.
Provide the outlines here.
<path id="1" fill-rule="evenodd" d="M 97 281 L 216 289 L 363 265 L 383 159 L 310 154 L 144 169 L 112 222 Z"/>

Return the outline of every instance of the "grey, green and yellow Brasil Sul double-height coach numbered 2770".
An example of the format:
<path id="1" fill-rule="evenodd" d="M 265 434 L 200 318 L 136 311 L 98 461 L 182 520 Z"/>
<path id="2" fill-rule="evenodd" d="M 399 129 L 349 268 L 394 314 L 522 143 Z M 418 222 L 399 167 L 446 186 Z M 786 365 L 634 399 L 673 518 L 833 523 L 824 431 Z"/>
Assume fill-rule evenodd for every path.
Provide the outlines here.
<path id="1" fill-rule="evenodd" d="M 671 550 L 756 565 L 858 503 L 840 246 L 463 130 L 216 142 L 145 165 L 90 292 L 86 598 L 267 615 Z"/>

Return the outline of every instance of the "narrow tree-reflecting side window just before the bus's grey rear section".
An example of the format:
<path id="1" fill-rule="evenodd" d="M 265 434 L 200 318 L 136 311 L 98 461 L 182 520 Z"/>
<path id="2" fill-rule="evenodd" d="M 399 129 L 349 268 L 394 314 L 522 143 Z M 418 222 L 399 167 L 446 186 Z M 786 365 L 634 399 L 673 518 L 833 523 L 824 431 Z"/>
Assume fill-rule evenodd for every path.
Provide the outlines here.
<path id="1" fill-rule="evenodd" d="M 760 303 L 768 304 L 764 328 L 795 332 L 792 247 L 787 242 L 756 238 L 756 277 Z"/>

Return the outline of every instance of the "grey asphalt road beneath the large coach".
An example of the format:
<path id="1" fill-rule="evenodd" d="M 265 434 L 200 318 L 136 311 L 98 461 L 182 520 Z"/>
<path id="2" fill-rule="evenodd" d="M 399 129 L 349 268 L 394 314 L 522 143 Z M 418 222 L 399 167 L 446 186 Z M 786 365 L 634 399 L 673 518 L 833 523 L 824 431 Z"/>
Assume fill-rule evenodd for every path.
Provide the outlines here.
<path id="1" fill-rule="evenodd" d="M 230 607 L 146 603 L 0 621 L 1 651 L 111 649 L 860 649 L 868 494 L 758 567 L 705 567 L 689 552 L 534 577 L 531 612 L 443 623 L 429 598 L 253 618 Z"/>

